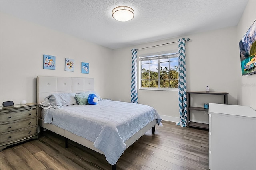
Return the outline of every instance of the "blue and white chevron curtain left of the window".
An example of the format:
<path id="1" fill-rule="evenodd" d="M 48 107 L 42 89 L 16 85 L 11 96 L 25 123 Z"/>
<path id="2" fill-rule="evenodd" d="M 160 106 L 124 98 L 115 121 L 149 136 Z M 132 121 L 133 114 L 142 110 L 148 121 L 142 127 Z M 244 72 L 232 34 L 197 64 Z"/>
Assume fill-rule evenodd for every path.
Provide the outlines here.
<path id="1" fill-rule="evenodd" d="M 132 49 L 132 85 L 131 85 L 131 102 L 138 103 L 137 92 L 137 50 Z"/>

